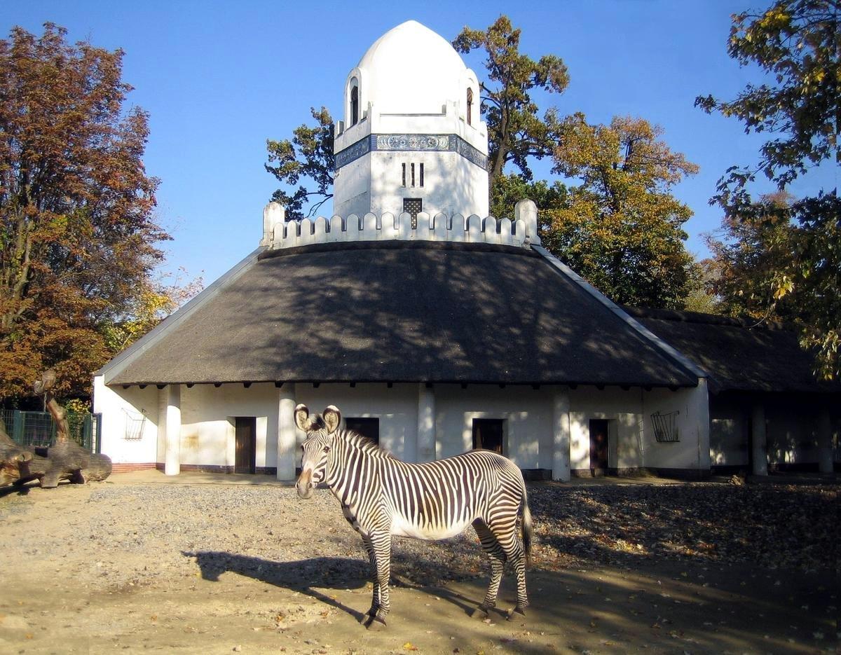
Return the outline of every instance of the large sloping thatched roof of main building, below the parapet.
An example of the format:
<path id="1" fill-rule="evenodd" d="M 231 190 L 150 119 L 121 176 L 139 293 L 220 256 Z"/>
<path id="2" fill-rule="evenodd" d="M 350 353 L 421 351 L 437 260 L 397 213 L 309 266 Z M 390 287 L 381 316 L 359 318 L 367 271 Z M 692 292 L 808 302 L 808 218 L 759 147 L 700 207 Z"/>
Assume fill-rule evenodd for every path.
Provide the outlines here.
<path id="1" fill-rule="evenodd" d="M 101 372 L 108 384 L 697 383 L 534 251 L 399 241 L 252 256 Z"/>

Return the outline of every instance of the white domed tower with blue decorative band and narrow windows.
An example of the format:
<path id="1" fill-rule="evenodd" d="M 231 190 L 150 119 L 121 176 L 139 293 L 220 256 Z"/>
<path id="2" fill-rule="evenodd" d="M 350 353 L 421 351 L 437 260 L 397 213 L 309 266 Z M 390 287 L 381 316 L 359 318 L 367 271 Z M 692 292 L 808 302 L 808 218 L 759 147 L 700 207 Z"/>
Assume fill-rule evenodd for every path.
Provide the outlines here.
<path id="1" fill-rule="evenodd" d="M 479 82 L 441 36 L 410 20 L 368 48 L 336 124 L 333 212 L 488 215 Z"/>

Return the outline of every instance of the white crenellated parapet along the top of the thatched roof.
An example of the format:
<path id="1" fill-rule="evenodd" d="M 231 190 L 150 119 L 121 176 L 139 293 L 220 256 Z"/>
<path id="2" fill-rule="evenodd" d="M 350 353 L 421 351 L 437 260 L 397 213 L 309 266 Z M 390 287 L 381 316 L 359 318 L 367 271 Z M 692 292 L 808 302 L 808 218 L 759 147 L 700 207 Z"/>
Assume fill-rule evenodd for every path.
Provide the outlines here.
<path id="1" fill-rule="evenodd" d="M 453 241 L 490 243 L 528 247 L 539 244 L 537 206 L 521 200 L 514 208 L 514 219 L 481 218 L 476 214 L 364 214 L 357 216 L 319 216 L 315 219 L 286 220 L 286 211 L 278 203 L 263 209 L 261 246 L 271 250 L 341 241 Z"/>

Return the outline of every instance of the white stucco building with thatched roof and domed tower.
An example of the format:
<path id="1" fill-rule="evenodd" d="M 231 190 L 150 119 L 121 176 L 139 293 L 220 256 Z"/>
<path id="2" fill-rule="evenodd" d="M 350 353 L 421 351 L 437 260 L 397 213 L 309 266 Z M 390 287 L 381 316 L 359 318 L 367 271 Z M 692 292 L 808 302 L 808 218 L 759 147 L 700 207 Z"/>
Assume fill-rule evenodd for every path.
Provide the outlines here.
<path id="1" fill-rule="evenodd" d="M 709 472 L 710 367 L 542 249 L 531 201 L 487 215 L 479 85 L 452 46 L 409 21 L 344 84 L 336 215 L 270 204 L 255 251 L 96 374 L 115 470 L 292 479 L 305 403 L 411 462 Z"/>

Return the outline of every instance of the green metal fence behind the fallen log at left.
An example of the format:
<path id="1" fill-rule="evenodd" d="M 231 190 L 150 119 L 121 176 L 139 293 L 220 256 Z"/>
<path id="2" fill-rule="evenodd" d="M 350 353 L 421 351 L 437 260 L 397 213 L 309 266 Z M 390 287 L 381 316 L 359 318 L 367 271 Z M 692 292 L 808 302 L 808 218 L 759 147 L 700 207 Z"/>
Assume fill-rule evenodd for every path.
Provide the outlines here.
<path id="1" fill-rule="evenodd" d="M 0 409 L 0 420 L 8 436 L 21 446 L 49 447 L 56 443 L 56 422 L 50 412 Z M 67 412 L 67 426 L 73 441 L 91 452 L 101 451 L 101 414 Z"/>

